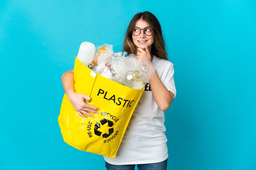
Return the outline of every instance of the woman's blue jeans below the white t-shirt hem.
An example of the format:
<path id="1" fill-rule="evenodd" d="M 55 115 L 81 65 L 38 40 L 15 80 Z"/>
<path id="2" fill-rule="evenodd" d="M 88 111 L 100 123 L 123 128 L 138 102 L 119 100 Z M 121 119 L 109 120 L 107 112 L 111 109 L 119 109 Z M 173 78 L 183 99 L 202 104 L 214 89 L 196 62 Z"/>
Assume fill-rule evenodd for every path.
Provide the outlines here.
<path id="1" fill-rule="evenodd" d="M 107 170 L 134 170 L 135 165 L 112 165 L 106 162 Z M 167 170 L 167 159 L 157 163 L 137 164 L 138 170 Z"/>

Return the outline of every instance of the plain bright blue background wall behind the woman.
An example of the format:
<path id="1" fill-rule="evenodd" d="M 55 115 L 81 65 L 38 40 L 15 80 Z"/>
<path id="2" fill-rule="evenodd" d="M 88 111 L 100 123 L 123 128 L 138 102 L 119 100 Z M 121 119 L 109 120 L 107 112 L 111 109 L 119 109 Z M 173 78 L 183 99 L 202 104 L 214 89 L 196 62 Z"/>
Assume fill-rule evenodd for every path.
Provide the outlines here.
<path id="1" fill-rule="evenodd" d="M 63 142 L 61 75 L 83 41 L 120 51 L 141 11 L 159 19 L 175 67 L 168 170 L 256 169 L 255 0 L 1 0 L 1 170 L 104 169 Z"/>

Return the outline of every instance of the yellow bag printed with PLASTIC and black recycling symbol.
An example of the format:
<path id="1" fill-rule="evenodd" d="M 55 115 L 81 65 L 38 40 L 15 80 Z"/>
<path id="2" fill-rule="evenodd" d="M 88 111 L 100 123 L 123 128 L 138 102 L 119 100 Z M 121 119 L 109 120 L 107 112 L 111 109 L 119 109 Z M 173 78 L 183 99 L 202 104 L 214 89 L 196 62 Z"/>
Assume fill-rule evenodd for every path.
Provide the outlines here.
<path id="1" fill-rule="evenodd" d="M 64 94 L 58 123 L 64 141 L 87 152 L 114 158 L 132 113 L 144 91 L 132 89 L 95 74 L 75 59 L 75 92 L 91 97 L 99 107 L 94 118 L 81 117 Z"/>

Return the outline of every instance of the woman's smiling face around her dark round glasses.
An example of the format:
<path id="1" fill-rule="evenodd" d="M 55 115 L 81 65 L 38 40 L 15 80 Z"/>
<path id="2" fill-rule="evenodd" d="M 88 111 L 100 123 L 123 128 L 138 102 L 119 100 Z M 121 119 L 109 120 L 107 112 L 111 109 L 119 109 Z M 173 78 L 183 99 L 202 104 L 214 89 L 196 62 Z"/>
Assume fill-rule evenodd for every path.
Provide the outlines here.
<path id="1" fill-rule="evenodd" d="M 148 22 L 142 19 L 137 20 L 135 24 L 135 27 L 138 27 L 140 29 L 144 29 L 147 26 L 150 26 L 150 25 L 148 24 Z M 151 52 L 151 46 L 154 43 L 154 34 L 146 35 L 144 33 L 144 30 L 140 30 L 140 33 L 138 36 L 132 35 L 132 41 L 136 47 L 140 47 L 142 49 L 145 49 L 146 46 L 148 46 L 148 50 L 149 52 Z"/>

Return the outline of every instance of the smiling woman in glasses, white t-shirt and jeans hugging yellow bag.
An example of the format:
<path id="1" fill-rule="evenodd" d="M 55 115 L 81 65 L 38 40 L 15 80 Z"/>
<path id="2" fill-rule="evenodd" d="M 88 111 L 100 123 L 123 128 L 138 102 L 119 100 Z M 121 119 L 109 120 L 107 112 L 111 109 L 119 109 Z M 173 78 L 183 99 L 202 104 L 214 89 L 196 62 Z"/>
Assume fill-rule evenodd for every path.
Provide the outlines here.
<path id="1" fill-rule="evenodd" d="M 124 51 L 140 61 L 149 61 L 155 73 L 145 85 L 139 103 L 126 129 L 116 158 L 104 157 L 108 170 L 167 169 L 167 139 L 164 134 L 164 111 L 176 95 L 173 63 L 168 61 L 161 26 L 150 12 L 137 13 L 131 20 L 124 39 Z M 74 71 L 63 74 L 64 90 L 80 116 L 94 117 L 98 107 L 88 105 L 90 97 L 74 92 Z M 91 113 L 88 113 L 91 112 Z"/>

